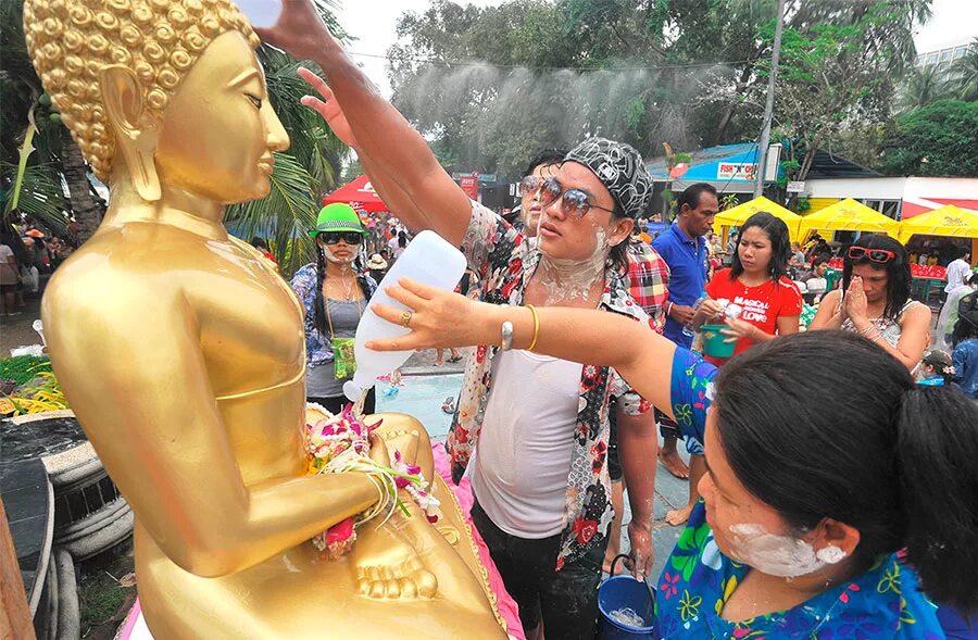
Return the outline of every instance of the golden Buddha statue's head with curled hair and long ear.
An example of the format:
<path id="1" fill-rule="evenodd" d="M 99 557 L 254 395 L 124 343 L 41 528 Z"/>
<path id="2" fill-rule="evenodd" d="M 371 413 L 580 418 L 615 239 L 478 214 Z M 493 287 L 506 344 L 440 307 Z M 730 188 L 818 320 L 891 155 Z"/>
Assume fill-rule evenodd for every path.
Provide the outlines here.
<path id="1" fill-rule="evenodd" d="M 34 66 L 95 174 L 146 201 L 268 192 L 288 136 L 229 0 L 26 0 Z M 162 185 L 162 187 L 161 187 Z"/>

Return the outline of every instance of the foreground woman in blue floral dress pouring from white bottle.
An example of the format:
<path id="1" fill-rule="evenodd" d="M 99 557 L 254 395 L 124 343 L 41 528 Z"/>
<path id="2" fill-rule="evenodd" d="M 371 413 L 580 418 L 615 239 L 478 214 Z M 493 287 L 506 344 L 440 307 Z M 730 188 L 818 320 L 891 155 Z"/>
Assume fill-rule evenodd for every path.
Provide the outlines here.
<path id="1" fill-rule="evenodd" d="M 512 327 L 513 348 L 614 366 L 703 439 L 704 501 L 655 583 L 663 638 L 944 638 L 932 602 L 978 612 L 978 407 L 915 387 L 868 340 L 787 336 L 717 374 L 628 321 L 543 309 L 535 325 L 526 309 L 402 287 L 413 332 L 371 348 Z"/>

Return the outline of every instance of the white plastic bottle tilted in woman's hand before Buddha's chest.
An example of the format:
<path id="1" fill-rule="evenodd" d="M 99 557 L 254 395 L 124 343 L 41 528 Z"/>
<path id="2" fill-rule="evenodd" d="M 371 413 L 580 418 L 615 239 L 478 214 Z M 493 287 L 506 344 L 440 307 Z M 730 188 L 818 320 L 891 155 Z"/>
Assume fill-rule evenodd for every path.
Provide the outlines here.
<path id="1" fill-rule="evenodd" d="M 364 347 L 369 340 L 398 338 L 410 331 L 399 324 L 381 319 L 374 313 L 377 303 L 406 310 L 392 300 L 384 288 L 397 285 L 401 278 L 452 290 L 465 273 L 465 256 L 435 231 L 422 231 L 404 249 L 371 299 L 360 324 L 356 326 L 356 373 L 343 385 L 343 393 L 351 402 L 361 399 L 364 392 L 377 382 L 377 378 L 391 373 L 411 357 L 413 351 L 372 351 Z"/>

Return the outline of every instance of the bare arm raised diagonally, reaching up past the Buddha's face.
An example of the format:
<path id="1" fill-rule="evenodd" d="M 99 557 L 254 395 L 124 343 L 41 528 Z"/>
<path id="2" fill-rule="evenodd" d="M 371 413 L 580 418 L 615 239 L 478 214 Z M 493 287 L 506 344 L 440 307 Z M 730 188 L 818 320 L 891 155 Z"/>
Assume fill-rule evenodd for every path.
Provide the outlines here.
<path id="1" fill-rule="evenodd" d="M 432 229 L 460 246 L 472 214 L 468 197 L 444 172 L 417 130 L 347 57 L 313 3 L 285 0 L 278 24 L 256 32 L 265 41 L 323 68 L 359 149 L 375 166 L 372 178 L 380 184 L 396 181 L 416 205 L 398 211 L 399 217 L 413 229 Z"/>

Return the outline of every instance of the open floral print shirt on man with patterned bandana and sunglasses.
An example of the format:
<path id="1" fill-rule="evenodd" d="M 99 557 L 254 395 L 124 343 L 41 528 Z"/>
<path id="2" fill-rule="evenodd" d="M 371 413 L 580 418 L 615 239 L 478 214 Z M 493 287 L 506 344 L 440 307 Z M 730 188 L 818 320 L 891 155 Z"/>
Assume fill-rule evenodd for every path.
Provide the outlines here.
<path id="1" fill-rule="evenodd" d="M 503 218 L 473 202 L 472 219 L 462 250 L 469 267 L 479 275 L 481 300 L 493 304 L 523 303 L 523 296 L 540 252 Z M 649 322 L 628 293 L 628 278 L 613 268 L 605 273 L 601 309 Z M 478 347 L 468 359 L 457 409 L 446 443 L 452 459 L 452 476 L 457 482 L 475 451 L 489 393 L 492 389 L 492 359 L 498 346 Z M 652 405 L 636 394 L 610 367 L 584 365 L 574 449 L 568 461 L 564 530 L 556 569 L 585 555 L 607 536 L 614 517 L 606 457 L 610 437 L 609 403 L 617 398 L 628 415 L 647 413 Z"/>

